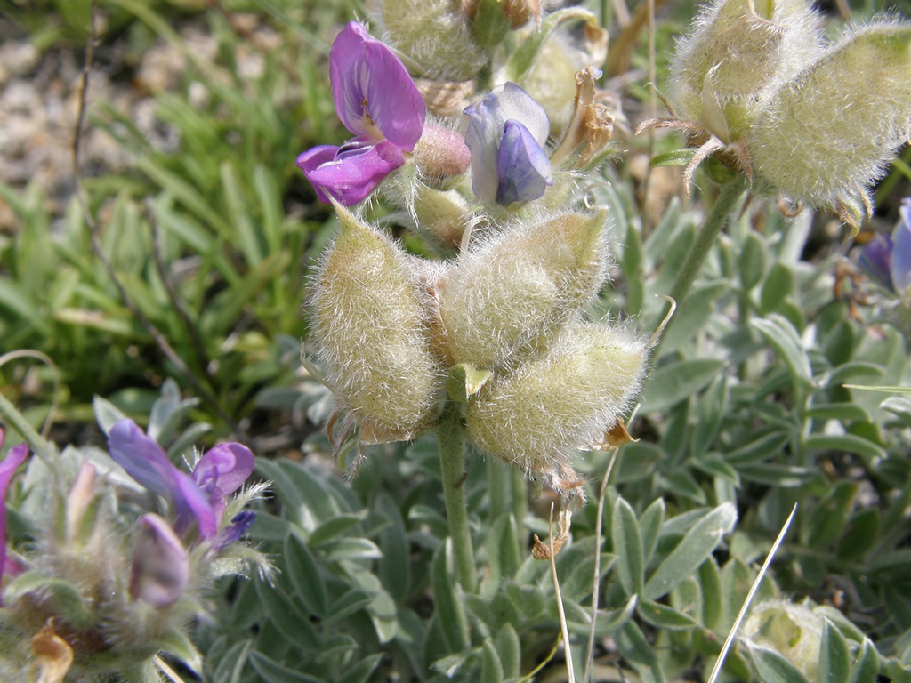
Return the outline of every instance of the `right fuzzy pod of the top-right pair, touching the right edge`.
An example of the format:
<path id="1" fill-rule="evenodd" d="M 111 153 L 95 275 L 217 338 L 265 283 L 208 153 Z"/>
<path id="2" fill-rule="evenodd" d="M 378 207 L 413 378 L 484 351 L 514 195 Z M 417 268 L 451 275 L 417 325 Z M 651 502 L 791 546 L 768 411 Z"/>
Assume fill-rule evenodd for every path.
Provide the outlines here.
<path id="1" fill-rule="evenodd" d="M 850 223 L 869 213 L 866 186 L 911 138 L 911 25 L 848 32 L 764 107 L 744 138 L 756 174 Z"/>

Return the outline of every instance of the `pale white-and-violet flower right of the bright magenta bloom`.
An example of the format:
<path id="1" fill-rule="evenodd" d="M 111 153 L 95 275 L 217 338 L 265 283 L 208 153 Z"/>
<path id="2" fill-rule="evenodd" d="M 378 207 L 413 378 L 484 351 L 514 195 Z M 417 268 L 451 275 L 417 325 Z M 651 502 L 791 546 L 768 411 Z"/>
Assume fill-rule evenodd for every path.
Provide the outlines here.
<path id="1" fill-rule="evenodd" d="M 466 107 L 471 189 L 479 199 L 508 206 L 538 199 L 554 184 L 544 150 L 550 120 L 544 107 L 515 83 L 495 87 Z"/>

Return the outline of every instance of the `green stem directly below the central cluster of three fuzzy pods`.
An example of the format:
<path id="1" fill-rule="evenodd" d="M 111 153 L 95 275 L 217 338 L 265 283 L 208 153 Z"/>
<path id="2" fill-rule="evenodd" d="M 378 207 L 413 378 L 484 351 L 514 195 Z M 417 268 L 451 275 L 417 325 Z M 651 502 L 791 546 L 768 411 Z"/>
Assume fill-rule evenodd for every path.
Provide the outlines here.
<path id="1" fill-rule="evenodd" d="M 477 592 L 475 550 L 468 530 L 468 507 L 465 500 L 465 427 L 458 403 L 446 403 L 436 430 L 440 449 L 440 471 L 443 474 L 443 497 L 449 535 L 453 539 L 455 566 L 459 582 L 466 593 Z"/>

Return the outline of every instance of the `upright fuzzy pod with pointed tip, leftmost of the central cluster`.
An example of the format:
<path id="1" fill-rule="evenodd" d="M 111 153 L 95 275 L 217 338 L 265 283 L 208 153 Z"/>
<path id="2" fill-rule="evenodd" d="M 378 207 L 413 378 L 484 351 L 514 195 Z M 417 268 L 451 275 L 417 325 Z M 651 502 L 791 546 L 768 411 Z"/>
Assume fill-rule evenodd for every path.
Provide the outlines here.
<path id="1" fill-rule="evenodd" d="M 335 204 L 339 236 L 313 282 L 313 336 L 363 443 L 404 441 L 433 419 L 442 369 L 426 295 L 403 250 Z"/>

